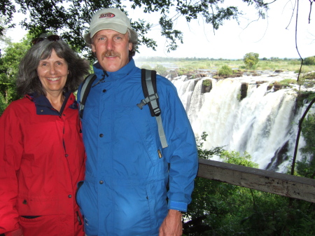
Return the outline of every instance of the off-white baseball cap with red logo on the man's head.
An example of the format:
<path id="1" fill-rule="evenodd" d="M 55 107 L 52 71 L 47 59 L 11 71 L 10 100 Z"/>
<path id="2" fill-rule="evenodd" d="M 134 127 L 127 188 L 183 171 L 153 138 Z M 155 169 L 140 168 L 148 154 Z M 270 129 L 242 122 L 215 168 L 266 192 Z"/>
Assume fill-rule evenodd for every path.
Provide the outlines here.
<path id="1" fill-rule="evenodd" d="M 118 8 L 104 8 L 97 11 L 90 22 L 90 37 L 103 29 L 112 29 L 126 34 L 127 28 L 132 29 L 127 15 Z"/>

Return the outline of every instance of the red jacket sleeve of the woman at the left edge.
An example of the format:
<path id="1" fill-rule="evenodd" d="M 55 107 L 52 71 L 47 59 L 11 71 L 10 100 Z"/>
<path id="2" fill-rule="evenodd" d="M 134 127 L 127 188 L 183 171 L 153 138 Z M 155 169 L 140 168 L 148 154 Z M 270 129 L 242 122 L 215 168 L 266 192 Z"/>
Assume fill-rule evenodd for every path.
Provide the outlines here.
<path id="1" fill-rule="evenodd" d="M 14 106 L 10 105 L 0 116 L 0 234 L 20 230 L 16 200 L 21 159 L 22 131 Z"/>

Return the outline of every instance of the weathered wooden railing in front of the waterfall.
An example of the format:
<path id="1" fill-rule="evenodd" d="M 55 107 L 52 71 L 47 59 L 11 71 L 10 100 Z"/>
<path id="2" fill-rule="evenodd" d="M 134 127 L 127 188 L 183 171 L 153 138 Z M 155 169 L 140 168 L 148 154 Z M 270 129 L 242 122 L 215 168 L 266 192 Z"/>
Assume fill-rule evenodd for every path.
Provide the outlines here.
<path id="1" fill-rule="evenodd" d="M 255 190 L 315 202 L 315 179 L 199 159 L 197 176 Z"/>

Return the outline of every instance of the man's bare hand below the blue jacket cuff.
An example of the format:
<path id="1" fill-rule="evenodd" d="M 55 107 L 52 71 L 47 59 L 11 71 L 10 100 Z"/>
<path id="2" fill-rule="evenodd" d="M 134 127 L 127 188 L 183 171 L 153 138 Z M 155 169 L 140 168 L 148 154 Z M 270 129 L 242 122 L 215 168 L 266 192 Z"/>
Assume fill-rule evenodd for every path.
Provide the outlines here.
<path id="1" fill-rule="evenodd" d="M 159 236 L 181 236 L 182 234 L 181 212 L 169 209 L 169 213 L 160 226 Z"/>

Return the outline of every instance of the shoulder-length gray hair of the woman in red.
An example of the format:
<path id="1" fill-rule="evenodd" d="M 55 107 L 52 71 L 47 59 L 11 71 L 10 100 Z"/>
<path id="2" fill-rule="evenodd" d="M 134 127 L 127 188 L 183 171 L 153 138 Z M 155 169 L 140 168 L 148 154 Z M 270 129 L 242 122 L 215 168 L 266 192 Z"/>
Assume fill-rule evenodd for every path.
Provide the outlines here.
<path id="1" fill-rule="evenodd" d="M 38 96 L 46 95 L 38 78 L 37 67 L 41 60 L 51 56 L 52 50 L 55 50 L 57 56 L 63 58 L 68 64 L 69 74 L 66 78 L 64 92 L 74 92 L 78 89 L 78 85 L 90 72 L 90 62 L 81 58 L 62 39 L 58 41 L 44 39 L 31 46 L 20 62 L 16 80 L 18 94 L 24 96 L 36 92 Z"/>

